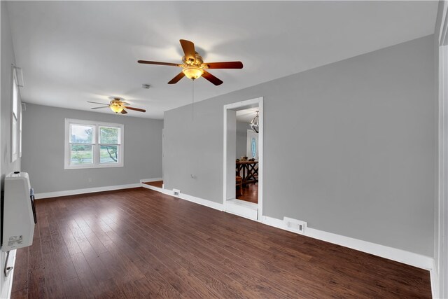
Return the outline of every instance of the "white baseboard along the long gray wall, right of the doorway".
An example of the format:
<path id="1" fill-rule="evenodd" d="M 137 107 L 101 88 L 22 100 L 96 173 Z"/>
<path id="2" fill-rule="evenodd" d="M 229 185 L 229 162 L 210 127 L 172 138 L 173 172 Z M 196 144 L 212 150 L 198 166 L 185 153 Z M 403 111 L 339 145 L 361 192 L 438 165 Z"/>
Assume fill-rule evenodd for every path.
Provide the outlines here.
<path id="1" fill-rule="evenodd" d="M 269 216 L 262 217 L 262 223 L 265 223 L 275 228 L 281 228 L 282 230 L 288 230 L 283 221 L 277 218 Z M 345 237 L 342 235 L 336 235 L 332 232 L 324 232 L 323 230 L 316 230 L 314 228 L 307 228 L 304 235 L 312 237 L 314 239 L 320 239 L 332 244 L 341 245 L 365 253 L 373 254 L 374 256 L 380 256 L 381 258 L 388 258 L 389 260 L 395 260 L 396 262 L 412 265 L 425 270 L 433 269 L 433 258 L 429 256 L 423 256 L 419 253 L 413 253 L 402 249 L 396 249 L 372 242 L 363 241 L 360 239 L 353 239 L 351 237 Z"/>

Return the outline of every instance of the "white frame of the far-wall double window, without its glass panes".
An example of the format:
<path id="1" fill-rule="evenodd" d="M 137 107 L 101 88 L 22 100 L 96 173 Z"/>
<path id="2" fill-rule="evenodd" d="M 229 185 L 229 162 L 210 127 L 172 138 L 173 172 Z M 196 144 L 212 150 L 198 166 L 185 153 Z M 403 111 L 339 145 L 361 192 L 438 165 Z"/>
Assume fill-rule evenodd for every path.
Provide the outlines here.
<path id="1" fill-rule="evenodd" d="M 93 163 L 88 165 L 71 165 L 70 161 L 70 125 L 90 125 L 94 127 L 92 140 Z M 102 144 L 99 143 L 99 127 L 117 127 L 120 129 L 120 150 L 118 151 L 118 163 L 99 163 L 99 149 Z M 125 125 L 120 123 L 102 123 L 94 120 L 77 120 L 72 118 L 65 119 L 65 138 L 64 138 L 64 169 L 86 169 L 86 168 L 108 168 L 123 167 L 125 157 Z M 106 144 L 104 144 L 106 145 Z"/>

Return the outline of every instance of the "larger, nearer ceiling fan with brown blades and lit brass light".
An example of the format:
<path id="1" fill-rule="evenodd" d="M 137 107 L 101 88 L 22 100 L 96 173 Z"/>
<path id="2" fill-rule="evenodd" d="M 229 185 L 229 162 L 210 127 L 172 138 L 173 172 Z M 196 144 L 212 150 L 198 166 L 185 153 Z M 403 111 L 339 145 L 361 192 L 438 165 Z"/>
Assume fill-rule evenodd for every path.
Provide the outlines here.
<path id="1" fill-rule="evenodd" d="M 183 53 L 185 56 L 182 57 L 182 64 L 170 63 L 170 62 L 156 62 L 156 61 L 147 61 L 147 60 L 139 60 L 139 63 L 143 64 L 158 64 L 158 65 L 168 65 L 171 67 L 181 67 L 182 71 L 168 84 L 178 83 L 181 78 L 186 76 L 189 79 L 195 80 L 199 77 L 204 77 L 214 85 L 221 85 L 223 81 L 216 78 L 212 74 L 210 74 L 206 69 L 242 69 L 243 64 L 239 61 L 234 62 L 204 62 L 202 60 L 201 55 L 197 54 L 195 51 L 195 44 L 191 41 L 186 41 L 185 39 L 181 39 L 181 46 L 183 49 Z"/>

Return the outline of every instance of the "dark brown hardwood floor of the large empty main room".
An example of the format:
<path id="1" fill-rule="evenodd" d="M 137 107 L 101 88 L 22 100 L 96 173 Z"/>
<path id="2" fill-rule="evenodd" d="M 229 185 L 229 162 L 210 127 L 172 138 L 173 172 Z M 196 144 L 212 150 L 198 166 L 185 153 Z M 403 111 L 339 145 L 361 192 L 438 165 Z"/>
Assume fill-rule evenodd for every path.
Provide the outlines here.
<path id="1" fill-rule="evenodd" d="M 430 298 L 429 272 L 146 188 L 36 200 L 12 298 Z"/>

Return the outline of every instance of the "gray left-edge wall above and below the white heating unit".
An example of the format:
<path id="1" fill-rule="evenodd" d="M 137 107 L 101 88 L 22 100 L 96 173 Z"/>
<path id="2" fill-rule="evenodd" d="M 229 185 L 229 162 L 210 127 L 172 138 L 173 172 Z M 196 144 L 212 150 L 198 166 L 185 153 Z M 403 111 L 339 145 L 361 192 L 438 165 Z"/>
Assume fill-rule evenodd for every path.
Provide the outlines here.
<path id="1" fill-rule="evenodd" d="M 13 104 L 13 69 L 11 64 L 15 64 L 13 38 L 9 27 L 9 17 L 6 8 L 6 1 L 1 1 L 1 99 L 0 99 L 0 186 L 1 200 L 3 201 L 3 186 L 5 175 L 20 170 L 20 158 L 11 162 L 11 118 Z M 20 106 L 20 95 L 19 103 Z M 0 205 L 1 214 L 1 205 Z M 3 223 L 3 219 L 1 220 Z M 3 267 L 6 260 L 6 253 L 0 252 L 1 271 L 0 271 L 0 297 L 6 290 L 6 279 L 3 274 Z"/>

